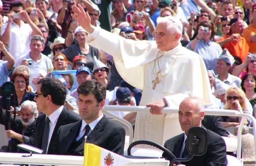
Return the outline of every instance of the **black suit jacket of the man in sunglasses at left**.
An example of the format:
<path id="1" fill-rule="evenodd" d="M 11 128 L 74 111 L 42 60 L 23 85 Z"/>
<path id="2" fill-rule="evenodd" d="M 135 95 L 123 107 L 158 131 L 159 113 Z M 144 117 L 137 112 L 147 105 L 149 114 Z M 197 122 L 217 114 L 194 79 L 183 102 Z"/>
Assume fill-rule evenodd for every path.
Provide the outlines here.
<path id="1" fill-rule="evenodd" d="M 42 147 L 42 136 L 43 136 L 43 132 L 44 132 L 45 119 L 46 119 L 46 115 L 42 114 L 37 118 L 36 124 L 35 124 L 35 146 L 38 148 Z M 58 132 L 59 127 L 66 125 L 66 124 L 77 122 L 79 120 L 81 120 L 79 114 L 68 110 L 64 106 L 60 116 L 58 117 L 56 126 L 53 130 L 47 154 L 53 154 L 52 152 L 55 151 L 55 149 L 53 149 L 52 145 L 54 145 L 55 142 L 57 142 L 57 138 L 58 138 L 57 132 Z"/>

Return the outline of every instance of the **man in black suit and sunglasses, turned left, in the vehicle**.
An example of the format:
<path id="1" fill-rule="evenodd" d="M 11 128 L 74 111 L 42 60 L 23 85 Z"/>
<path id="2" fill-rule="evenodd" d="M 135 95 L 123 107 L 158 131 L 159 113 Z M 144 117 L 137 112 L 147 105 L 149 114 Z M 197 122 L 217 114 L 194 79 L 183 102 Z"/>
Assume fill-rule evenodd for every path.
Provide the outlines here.
<path id="1" fill-rule="evenodd" d="M 66 88 L 57 78 L 42 78 L 38 81 L 35 101 L 43 112 L 35 124 L 35 146 L 44 150 L 43 154 L 53 154 L 60 126 L 81 120 L 79 114 L 65 106 Z"/>

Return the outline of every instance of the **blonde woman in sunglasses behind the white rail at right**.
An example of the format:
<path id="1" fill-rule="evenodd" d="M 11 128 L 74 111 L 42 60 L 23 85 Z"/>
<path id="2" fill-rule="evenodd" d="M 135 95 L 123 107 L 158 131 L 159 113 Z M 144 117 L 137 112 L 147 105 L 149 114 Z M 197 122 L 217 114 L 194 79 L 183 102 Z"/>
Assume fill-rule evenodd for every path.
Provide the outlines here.
<path id="1" fill-rule="evenodd" d="M 226 92 L 226 104 L 224 109 L 237 110 L 239 113 L 249 114 L 246 105 L 246 97 L 242 89 L 231 86 Z M 241 117 L 221 116 L 221 125 L 223 127 L 237 126 L 241 122 Z M 247 125 L 248 121 L 245 120 L 244 125 Z"/>

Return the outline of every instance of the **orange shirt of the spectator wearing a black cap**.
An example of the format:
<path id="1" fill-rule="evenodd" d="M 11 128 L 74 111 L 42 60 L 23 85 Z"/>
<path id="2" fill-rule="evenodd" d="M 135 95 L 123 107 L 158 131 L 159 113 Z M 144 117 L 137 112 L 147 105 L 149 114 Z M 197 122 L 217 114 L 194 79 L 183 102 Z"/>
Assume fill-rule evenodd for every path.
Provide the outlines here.
<path id="1" fill-rule="evenodd" d="M 229 34 L 220 37 L 218 41 L 225 40 L 228 37 L 230 37 Z M 243 62 L 249 52 L 249 45 L 247 44 L 247 41 L 245 40 L 244 37 L 240 37 L 238 43 L 236 43 L 235 41 L 227 42 L 222 46 L 222 49 L 225 49 L 225 48 L 228 49 L 230 54 L 240 57 Z"/>

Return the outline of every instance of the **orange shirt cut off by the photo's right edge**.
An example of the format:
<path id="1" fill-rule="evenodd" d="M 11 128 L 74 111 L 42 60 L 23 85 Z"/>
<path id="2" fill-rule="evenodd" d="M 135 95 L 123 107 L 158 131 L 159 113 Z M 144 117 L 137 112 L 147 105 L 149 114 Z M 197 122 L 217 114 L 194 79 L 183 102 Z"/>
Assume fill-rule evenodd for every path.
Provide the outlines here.
<path id="1" fill-rule="evenodd" d="M 256 53 L 256 42 L 251 42 L 250 37 L 252 37 L 256 33 L 256 26 L 249 25 L 246 29 L 244 29 L 243 37 L 246 39 L 249 47 L 250 53 Z"/>

